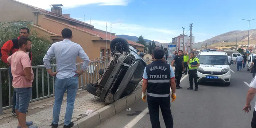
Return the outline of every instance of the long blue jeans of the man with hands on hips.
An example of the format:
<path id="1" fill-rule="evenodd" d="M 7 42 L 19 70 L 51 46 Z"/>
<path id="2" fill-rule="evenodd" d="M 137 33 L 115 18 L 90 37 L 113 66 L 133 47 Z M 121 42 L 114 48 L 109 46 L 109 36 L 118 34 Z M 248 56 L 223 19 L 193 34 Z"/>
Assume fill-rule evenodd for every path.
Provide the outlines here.
<path id="1" fill-rule="evenodd" d="M 53 124 L 59 123 L 59 114 L 61 112 L 61 104 L 63 101 L 64 93 L 67 89 L 67 108 L 65 114 L 64 124 L 69 125 L 74 110 L 75 96 L 77 94 L 78 76 L 74 75 L 70 78 L 55 79 L 55 100 L 53 106 Z"/>

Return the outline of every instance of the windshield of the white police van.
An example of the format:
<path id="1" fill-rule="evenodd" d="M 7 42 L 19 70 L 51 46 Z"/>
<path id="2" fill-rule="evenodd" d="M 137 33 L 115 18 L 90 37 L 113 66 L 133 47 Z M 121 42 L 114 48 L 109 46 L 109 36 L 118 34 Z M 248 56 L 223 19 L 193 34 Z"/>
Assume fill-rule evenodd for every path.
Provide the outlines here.
<path id="1" fill-rule="evenodd" d="M 226 55 L 200 55 L 198 59 L 203 65 L 228 65 Z"/>

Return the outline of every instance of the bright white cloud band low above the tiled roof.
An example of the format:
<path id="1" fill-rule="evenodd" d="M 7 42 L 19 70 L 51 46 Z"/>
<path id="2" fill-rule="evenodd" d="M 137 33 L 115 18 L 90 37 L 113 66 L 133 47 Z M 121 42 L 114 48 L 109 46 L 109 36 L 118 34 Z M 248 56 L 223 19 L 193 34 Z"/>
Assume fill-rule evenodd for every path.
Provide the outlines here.
<path id="1" fill-rule="evenodd" d="M 74 18 L 81 20 L 80 18 Z M 83 20 L 81 20 L 83 21 Z M 90 20 L 85 21 L 86 23 L 90 23 Z M 140 26 L 136 24 L 127 24 L 122 23 L 120 20 L 117 22 L 105 22 L 99 20 L 92 20 L 91 24 L 100 30 L 106 30 L 107 23 L 107 31 L 110 32 L 110 24 L 112 24 L 112 33 L 116 33 L 116 35 L 129 35 L 129 36 L 140 36 L 143 35 L 145 39 L 155 40 L 160 43 L 170 43 L 172 42 L 172 38 L 178 35 L 178 31 L 176 30 L 167 30 L 164 28 L 153 28 Z"/>

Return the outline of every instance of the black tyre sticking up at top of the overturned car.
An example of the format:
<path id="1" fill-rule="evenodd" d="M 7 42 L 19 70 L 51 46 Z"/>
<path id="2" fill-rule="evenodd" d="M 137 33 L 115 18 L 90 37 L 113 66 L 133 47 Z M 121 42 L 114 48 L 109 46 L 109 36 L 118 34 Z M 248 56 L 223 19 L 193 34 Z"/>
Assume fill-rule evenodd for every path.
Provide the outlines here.
<path id="1" fill-rule="evenodd" d="M 110 50 L 112 53 L 116 51 L 123 53 L 124 51 L 129 53 L 129 43 L 124 38 L 115 38 L 110 43 Z"/>

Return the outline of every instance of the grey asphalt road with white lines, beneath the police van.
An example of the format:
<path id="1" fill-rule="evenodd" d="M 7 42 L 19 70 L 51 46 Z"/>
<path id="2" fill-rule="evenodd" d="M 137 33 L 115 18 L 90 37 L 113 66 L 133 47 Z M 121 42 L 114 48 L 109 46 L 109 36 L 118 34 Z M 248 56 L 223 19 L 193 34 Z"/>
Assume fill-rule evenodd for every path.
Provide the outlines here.
<path id="1" fill-rule="evenodd" d="M 230 66 L 232 77 L 230 86 L 204 83 L 198 91 L 186 90 L 189 78 L 183 75 L 177 89 L 177 99 L 171 102 L 174 128 L 250 128 L 252 112 L 242 111 L 252 73 L 246 69 L 237 72 L 236 65 Z M 255 99 L 251 103 L 255 106 Z M 147 103 L 138 100 L 130 111 L 123 110 L 97 128 L 151 128 Z M 160 113 L 161 114 L 161 113 Z M 165 128 L 160 115 L 161 128 Z"/>

